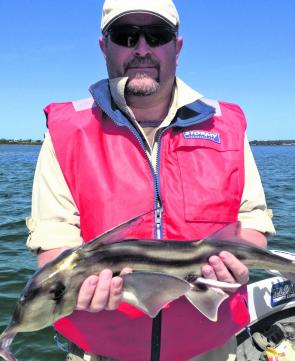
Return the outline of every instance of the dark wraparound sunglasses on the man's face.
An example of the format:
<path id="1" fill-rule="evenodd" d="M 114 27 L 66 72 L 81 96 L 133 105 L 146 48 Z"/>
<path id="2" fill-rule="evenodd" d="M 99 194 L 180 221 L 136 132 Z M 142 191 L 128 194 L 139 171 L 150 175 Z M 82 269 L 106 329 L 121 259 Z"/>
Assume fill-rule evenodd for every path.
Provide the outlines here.
<path id="1" fill-rule="evenodd" d="M 111 26 L 104 36 L 109 35 L 111 41 L 117 45 L 134 48 L 141 34 L 151 48 L 156 48 L 175 38 L 177 30 L 165 25 L 117 25 Z"/>

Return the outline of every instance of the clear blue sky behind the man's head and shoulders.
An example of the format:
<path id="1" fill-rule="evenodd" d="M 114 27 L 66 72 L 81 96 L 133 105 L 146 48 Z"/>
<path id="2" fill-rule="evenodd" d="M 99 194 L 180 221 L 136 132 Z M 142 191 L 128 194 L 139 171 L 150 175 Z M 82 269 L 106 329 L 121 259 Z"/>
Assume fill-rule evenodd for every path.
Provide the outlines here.
<path id="1" fill-rule="evenodd" d="M 102 3 L 0 0 L 0 138 L 42 139 L 46 104 L 86 98 L 107 76 Z M 175 3 L 178 75 L 208 98 L 241 105 L 250 140 L 295 139 L 295 1 Z"/>

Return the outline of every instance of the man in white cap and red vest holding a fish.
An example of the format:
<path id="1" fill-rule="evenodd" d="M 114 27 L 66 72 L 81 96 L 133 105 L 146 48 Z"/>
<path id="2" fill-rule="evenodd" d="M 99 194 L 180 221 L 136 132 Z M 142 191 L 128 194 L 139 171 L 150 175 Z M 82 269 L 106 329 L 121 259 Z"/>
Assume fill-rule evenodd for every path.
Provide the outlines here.
<path id="1" fill-rule="evenodd" d="M 175 78 L 178 27 L 171 0 L 105 1 L 100 47 L 109 79 L 90 87 L 89 100 L 45 109 L 49 134 L 28 220 L 40 266 L 157 206 L 162 211 L 147 215 L 133 237 L 201 239 L 239 219 L 241 241 L 266 246 L 274 229 L 243 113 Z M 202 272 L 242 285 L 249 276 L 228 252 Z M 243 288 L 216 323 L 183 298 L 152 321 L 120 303 L 123 279 L 112 276 L 106 269 L 86 279 L 76 311 L 55 324 L 71 341 L 69 360 L 226 360 L 232 336 L 249 321 Z"/>

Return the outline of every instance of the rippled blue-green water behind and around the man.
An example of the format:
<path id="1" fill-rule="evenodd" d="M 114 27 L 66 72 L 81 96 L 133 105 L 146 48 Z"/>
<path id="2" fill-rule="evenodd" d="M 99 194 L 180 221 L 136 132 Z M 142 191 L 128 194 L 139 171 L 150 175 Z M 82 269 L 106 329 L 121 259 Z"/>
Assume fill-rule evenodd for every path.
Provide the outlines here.
<path id="1" fill-rule="evenodd" d="M 270 248 L 295 252 L 295 147 L 253 147 L 277 235 Z M 25 247 L 25 217 L 30 215 L 31 188 L 40 147 L 0 146 L 0 332 L 36 263 Z M 256 273 L 254 278 L 263 274 Z M 19 334 L 13 351 L 19 361 L 64 360 L 51 328 Z"/>

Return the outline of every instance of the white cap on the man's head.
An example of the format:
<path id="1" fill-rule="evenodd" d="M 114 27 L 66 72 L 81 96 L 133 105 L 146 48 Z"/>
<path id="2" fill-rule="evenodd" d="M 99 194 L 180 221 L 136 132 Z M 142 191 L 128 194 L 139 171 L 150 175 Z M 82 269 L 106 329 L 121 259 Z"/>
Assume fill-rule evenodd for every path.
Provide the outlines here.
<path id="1" fill-rule="evenodd" d="M 179 15 L 172 0 L 105 0 L 102 9 L 101 31 L 104 32 L 120 17 L 136 13 L 151 14 L 172 26 L 179 25 Z"/>

